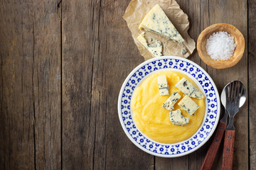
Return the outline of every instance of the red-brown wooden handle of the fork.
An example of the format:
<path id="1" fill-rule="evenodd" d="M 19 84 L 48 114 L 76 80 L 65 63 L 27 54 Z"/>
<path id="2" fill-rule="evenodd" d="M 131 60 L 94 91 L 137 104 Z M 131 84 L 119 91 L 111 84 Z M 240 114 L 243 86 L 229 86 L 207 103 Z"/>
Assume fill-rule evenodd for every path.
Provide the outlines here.
<path id="1" fill-rule="evenodd" d="M 224 148 L 223 148 L 223 164 L 222 169 L 232 169 L 233 152 L 235 143 L 235 130 L 225 130 Z"/>

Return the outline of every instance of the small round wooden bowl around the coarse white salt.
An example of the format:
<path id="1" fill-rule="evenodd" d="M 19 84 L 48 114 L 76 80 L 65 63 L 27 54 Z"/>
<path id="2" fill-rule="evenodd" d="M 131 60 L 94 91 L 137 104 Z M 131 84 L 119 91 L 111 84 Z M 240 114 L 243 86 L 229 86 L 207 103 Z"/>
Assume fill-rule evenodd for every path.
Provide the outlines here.
<path id="1" fill-rule="evenodd" d="M 229 60 L 213 60 L 206 52 L 206 40 L 210 37 L 210 35 L 213 35 L 213 33 L 219 31 L 228 32 L 235 40 L 235 51 Z M 202 31 L 198 37 L 196 48 L 198 50 L 199 57 L 201 57 L 203 62 L 215 69 L 225 69 L 228 67 L 233 67 L 242 58 L 245 51 L 245 38 L 238 28 L 235 28 L 228 23 L 216 23 Z"/>

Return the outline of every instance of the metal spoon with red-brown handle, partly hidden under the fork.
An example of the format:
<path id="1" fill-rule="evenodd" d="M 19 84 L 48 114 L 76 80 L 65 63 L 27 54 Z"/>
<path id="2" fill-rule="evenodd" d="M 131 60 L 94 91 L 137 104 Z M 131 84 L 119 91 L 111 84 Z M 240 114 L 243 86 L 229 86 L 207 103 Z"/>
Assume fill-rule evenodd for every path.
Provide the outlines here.
<path id="1" fill-rule="evenodd" d="M 228 83 L 223 88 L 223 91 L 222 91 L 221 96 L 220 96 L 221 103 L 223 104 L 224 107 L 226 106 L 226 94 L 228 94 L 228 88 L 230 86 L 230 83 Z M 246 90 L 243 91 L 242 95 L 240 96 L 239 107 L 241 107 L 245 103 L 245 100 L 246 100 Z M 210 147 L 208 149 L 206 157 L 205 157 L 205 159 L 203 161 L 203 164 L 201 166 L 201 170 L 211 169 L 211 167 L 213 166 L 215 156 L 217 154 L 218 148 L 220 147 L 220 142 L 223 138 L 224 130 L 227 127 L 227 125 L 228 125 L 228 112 L 225 111 L 225 114 L 224 114 L 223 118 L 220 120 L 218 128 L 216 129 L 214 140 L 213 140 L 212 144 L 210 145 Z"/>

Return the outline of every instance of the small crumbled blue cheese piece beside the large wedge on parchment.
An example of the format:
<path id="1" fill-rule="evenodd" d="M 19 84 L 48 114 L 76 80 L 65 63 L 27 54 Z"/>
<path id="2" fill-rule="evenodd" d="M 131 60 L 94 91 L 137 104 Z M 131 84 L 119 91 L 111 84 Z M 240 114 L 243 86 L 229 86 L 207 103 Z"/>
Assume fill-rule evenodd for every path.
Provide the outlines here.
<path id="1" fill-rule="evenodd" d="M 154 45 L 149 45 L 146 42 L 146 38 L 144 36 L 144 33 L 141 33 L 138 37 L 137 40 L 139 40 L 139 42 L 142 43 L 142 45 L 144 47 L 146 47 L 146 50 L 149 50 L 149 52 L 151 52 L 152 55 L 154 55 L 155 57 L 160 57 L 162 56 L 162 51 L 163 51 L 163 45 L 160 41 L 156 40 L 154 42 Z"/>

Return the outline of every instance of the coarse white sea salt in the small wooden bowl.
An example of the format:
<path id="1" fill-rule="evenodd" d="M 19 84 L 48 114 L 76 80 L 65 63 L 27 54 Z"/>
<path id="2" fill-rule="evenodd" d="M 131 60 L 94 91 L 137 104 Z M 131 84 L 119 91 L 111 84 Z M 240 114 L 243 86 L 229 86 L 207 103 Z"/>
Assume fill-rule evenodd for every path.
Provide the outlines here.
<path id="1" fill-rule="evenodd" d="M 207 54 L 213 60 L 229 60 L 235 47 L 234 38 L 225 31 L 213 33 L 206 41 Z"/>

